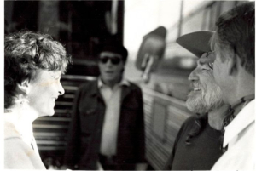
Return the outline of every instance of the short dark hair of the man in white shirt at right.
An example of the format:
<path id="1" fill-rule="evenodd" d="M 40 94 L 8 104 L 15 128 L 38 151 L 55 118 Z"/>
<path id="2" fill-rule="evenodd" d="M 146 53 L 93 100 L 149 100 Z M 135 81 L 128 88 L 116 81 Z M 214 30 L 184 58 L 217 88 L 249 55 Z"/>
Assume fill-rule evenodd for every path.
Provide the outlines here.
<path id="1" fill-rule="evenodd" d="M 241 66 L 255 77 L 255 3 L 242 3 L 222 14 L 216 26 L 217 45 L 233 49 Z"/>

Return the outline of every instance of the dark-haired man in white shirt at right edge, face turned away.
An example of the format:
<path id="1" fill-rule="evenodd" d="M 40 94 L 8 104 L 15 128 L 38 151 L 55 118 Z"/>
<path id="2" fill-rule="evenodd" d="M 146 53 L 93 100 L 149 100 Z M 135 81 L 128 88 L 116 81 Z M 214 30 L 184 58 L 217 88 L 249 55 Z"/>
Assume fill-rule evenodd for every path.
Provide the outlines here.
<path id="1" fill-rule="evenodd" d="M 213 170 L 255 170 L 255 3 L 222 14 L 212 37 L 213 75 L 230 113 L 224 119 L 227 150 Z"/>

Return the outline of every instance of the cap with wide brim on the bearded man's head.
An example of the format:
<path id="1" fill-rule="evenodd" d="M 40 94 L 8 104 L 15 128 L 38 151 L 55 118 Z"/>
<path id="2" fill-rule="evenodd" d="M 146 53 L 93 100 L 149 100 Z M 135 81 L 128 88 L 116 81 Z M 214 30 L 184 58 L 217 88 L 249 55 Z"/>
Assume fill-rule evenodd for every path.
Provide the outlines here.
<path id="1" fill-rule="evenodd" d="M 195 31 L 178 37 L 176 42 L 197 57 L 211 51 L 210 39 L 214 31 Z"/>

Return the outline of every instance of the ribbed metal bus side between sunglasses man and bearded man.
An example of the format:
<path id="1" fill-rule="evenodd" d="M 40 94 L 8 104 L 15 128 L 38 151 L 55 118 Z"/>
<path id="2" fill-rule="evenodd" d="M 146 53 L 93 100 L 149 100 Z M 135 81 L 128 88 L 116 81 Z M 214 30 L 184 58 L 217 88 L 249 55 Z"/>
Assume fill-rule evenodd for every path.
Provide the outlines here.
<path id="1" fill-rule="evenodd" d="M 143 88 L 146 158 L 154 169 L 163 169 L 172 152 L 177 131 L 186 118 L 192 114 L 186 109 L 183 100 Z M 155 106 L 157 109 L 155 110 Z M 154 113 L 156 112 L 156 113 Z M 160 115 L 162 115 L 160 117 Z M 165 117 L 163 117 L 165 116 Z M 158 122 L 154 126 L 154 118 Z M 164 120 L 162 118 L 165 118 Z M 156 127 L 155 127 L 156 126 Z"/>

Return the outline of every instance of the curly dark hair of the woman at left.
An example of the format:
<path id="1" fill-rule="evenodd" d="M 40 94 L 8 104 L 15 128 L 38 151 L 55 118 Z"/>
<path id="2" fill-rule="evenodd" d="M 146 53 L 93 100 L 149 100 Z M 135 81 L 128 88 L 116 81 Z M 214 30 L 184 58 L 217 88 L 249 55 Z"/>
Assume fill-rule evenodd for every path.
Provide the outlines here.
<path id="1" fill-rule="evenodd" d="M 19 31 L 4 37 L 4 108 L 14 105 L 17 83 L 32 80 L 39 69 L 62 71 L 72 62 L 61 43 L 49 35 Z"/>

